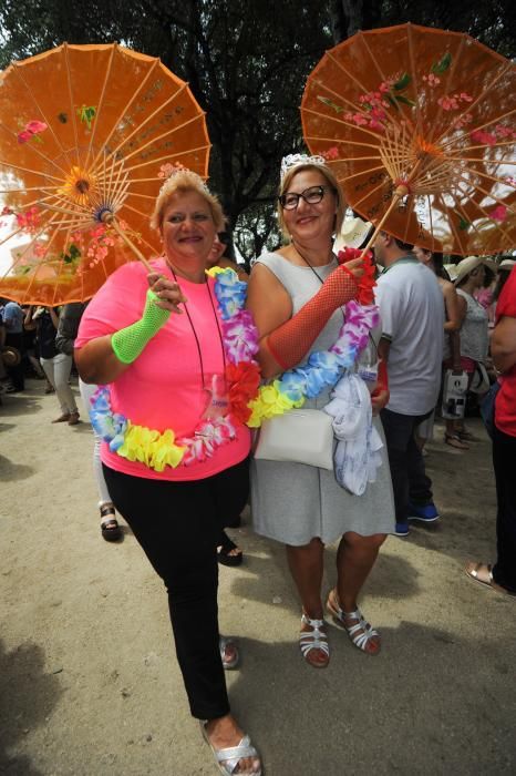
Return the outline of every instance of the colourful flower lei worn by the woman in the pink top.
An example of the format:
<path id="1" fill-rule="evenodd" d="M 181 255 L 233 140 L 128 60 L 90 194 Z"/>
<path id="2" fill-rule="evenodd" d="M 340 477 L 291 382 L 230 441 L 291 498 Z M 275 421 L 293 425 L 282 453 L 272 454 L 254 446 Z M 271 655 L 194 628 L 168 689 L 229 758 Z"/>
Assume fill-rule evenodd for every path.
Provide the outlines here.
<path id="1" fill-rule="evenodd" d="M 176 468 L 180 463 L 205 461 L 218 447 L 235 439 L 235 422 L 248 421 L 249 401 L 258 392 L 259 367 L 254 359 L 258 353 L 258 333 L 250 313 L 244 309 L 246 284 L 230 268 L 214 267 L 208 275 L 216 278 L 214 290 L 221 315 L 228 415 L 203 419 L 192 436 L 176 437 L 172 429 L 159 432 L 136 426 L 125 416 L 113 412 L 107 386 L 100 386 L 91 400 L 92 425 L 110 450 L 155 471 L 163 471 L 166 466 Z"/>

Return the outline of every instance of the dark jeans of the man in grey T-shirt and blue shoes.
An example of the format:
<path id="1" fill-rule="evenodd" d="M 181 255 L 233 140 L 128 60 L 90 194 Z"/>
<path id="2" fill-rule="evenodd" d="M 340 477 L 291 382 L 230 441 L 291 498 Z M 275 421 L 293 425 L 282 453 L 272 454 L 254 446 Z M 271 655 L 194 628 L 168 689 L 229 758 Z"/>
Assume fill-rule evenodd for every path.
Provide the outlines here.
<path id="1" fill-rule="evenodd" d="M 415 428 L 432 412 L 433 409 L 424 415 L 401 415 L 386 408 L 380 412 L 391 467 L 398 523 L 406 523 L 409 501 L 417 506 L 432 501 L 432 481 L 426 477 L 423 456 L 414 437 Z"/>

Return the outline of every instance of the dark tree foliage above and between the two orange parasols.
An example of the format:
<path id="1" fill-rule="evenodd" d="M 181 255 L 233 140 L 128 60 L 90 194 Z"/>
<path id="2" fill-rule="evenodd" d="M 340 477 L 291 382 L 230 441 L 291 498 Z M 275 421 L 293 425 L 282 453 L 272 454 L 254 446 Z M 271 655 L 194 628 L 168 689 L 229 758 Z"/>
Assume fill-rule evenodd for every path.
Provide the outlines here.
<path id="1" fill-rule="evenodd" d="M 516 49 L 513 0 L 3 0 L 0 67 L 54 45 L 117 41 L 159 57 L 207 112 L 210 185 L 246 258 L 278 243 L 281 156 L 301 150 L 299 103 L 324 50 L 358 29 L 413 21 Z"/>

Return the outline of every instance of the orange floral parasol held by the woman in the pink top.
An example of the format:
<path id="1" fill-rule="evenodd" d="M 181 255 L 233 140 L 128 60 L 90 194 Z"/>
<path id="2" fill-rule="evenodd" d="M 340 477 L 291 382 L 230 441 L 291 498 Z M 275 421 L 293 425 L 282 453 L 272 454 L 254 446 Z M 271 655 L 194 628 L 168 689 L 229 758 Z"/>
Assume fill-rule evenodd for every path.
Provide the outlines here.
<path id="1" fill-rule="evenodd" d="M 163 178 L 176 164 L 206 177 L 209 147 L 204 112 L 158 59 L 63 44 L 12 63 L 0 80 L 0 295 L 83 302 L 135 253 L 156 255 Z"/>

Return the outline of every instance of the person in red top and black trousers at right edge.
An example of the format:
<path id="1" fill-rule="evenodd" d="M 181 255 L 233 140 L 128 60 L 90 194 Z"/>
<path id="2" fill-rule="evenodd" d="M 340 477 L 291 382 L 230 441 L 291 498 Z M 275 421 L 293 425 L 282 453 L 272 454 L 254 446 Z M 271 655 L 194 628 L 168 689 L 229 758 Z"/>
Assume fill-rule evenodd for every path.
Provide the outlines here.
<path id="1" fill-rule="evenodd" d="M 493 468 L 496 479 L 496 562 L 466 563 L 466 574 L 500 593 L 516 595 L 516 269 L 498 297 L 491 354 L 499 389 L 494 406 Z"/>

